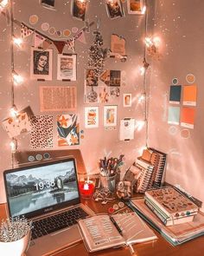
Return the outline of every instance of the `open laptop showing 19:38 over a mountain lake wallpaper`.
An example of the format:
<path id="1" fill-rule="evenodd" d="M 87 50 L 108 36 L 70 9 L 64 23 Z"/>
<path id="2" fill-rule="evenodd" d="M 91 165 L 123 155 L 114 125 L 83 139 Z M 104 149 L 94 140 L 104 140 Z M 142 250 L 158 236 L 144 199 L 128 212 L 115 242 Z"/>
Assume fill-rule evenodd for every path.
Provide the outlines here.
<path id="1" fill-rule="evenodd" d="M 6 170 L 3 178 L 10 217 L 33 221 L 27 256 L 56 253 L 81 240 L 77 220 L 94 213 L 80 203 L 73 158 Z"/>

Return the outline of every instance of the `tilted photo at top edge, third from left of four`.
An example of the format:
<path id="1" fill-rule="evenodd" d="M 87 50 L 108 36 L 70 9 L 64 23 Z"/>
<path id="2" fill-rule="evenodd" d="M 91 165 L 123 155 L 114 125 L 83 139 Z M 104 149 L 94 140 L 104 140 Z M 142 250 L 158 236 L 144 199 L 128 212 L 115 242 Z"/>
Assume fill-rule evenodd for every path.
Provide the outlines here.
<path id="1" fill-rule="evenodd" d="M 106 0 L 106 10 L 111 19 L 124 16 L 123 6 L 120 0 Z"/>

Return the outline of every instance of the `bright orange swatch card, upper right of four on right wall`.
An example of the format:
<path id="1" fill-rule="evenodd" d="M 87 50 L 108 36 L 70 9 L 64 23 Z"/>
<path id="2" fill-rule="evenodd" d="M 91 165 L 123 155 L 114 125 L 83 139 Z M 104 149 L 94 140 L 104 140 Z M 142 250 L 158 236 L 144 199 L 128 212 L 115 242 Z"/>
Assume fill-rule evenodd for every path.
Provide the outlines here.
<path id="1" fill-rule="evenodd" d="M 183 86 L 182 103 L 186 106 L 196 106 L 197 86 L 185 85 Z"/>

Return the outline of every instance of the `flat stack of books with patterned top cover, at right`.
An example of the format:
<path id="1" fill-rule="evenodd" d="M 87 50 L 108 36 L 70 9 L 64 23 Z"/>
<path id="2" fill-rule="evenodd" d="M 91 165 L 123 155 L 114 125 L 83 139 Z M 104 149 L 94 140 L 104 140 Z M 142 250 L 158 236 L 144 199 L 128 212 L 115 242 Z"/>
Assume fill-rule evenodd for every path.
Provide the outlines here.
<path id="1" fill-rule="evenodd" d="M 175 187 L 161 187 L 146 191 L 144 203 L 165 226 L 193 221 L 199 209 Z"/>

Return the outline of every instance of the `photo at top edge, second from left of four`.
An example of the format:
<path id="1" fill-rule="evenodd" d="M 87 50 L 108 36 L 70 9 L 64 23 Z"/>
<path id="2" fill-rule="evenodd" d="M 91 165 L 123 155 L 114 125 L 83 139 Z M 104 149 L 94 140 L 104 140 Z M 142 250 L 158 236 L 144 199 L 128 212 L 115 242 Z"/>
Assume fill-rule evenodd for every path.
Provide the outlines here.
<path id="1" fill-rule="evenodd" d="M 75 18 L 85 20 L 87 0 L 72 0 L 72 14 Z"/>

